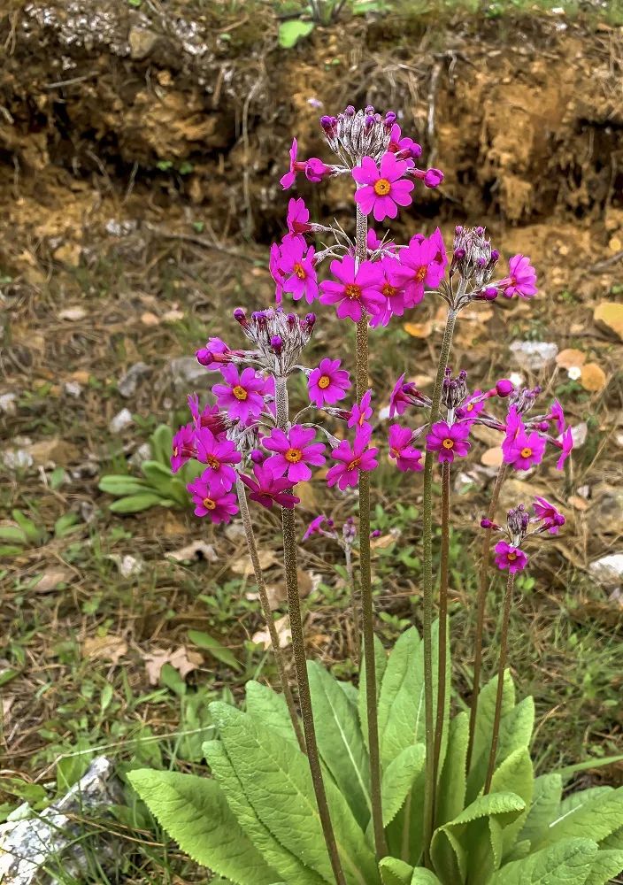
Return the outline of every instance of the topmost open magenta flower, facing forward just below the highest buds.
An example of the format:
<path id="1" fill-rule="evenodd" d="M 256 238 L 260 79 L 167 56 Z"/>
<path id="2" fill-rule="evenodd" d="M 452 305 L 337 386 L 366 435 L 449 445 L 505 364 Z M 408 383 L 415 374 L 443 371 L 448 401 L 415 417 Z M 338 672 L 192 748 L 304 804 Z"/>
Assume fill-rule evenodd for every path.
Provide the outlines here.
<path id="1" fill-rule="evenodd" d="M 396 160 L 396 155 L 391 152 L 381 157 L 380 169 L 372 157 L 362 158 L 361 165 L 352 170 L 352 177 L 359 186 L 355 203 L 364 215 L 373 212 L 377 221 L 395 219 L 398 206 L 411 204 L 410 194 L 415 185 L 404 179 L 408 168 L 405 160 Z"/>

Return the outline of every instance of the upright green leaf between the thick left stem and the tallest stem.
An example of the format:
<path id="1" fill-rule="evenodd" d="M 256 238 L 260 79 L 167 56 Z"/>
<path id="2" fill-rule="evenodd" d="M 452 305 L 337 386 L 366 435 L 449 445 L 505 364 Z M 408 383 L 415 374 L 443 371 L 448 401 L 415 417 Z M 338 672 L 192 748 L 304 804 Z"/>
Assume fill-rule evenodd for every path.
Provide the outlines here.
<path id="1" fill-rule="evenodd" d="M 320 756 L 350 809 L 365 830 L 372 813 L 370 762 L 359 730 L 357 711 L 331 673 L 307 662 Z"/>

